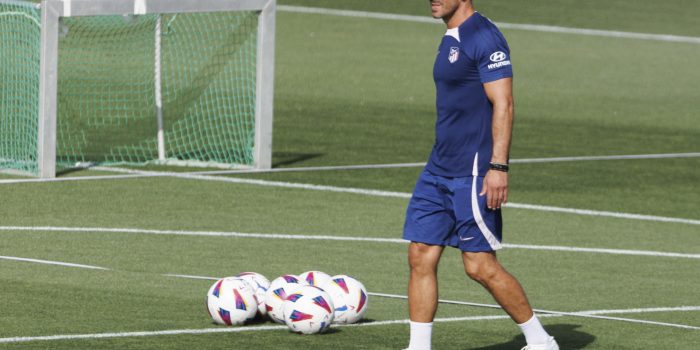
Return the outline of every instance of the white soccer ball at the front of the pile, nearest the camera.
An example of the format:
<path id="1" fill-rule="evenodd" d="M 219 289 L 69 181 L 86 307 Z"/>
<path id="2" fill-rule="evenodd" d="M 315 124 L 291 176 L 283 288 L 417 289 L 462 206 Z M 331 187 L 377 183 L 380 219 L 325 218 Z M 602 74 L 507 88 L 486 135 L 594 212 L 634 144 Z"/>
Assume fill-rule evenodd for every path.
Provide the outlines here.
<path id="1" fill-rule="evenodd" d="M 303 286 L 284 302 L 284 322 L 294 332 L 314 334 L 333 322 L 333 302 L 328 293 L 314 286 Z"/>

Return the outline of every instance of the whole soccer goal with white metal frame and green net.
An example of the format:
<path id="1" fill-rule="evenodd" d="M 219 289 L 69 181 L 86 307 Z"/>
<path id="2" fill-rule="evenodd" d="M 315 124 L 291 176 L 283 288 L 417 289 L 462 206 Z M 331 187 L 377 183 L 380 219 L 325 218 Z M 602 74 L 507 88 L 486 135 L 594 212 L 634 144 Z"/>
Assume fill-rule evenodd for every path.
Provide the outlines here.
<path id="1" fill-rule="evenodd" d="M 0 169 L 270 168 L 275 0 L 0 0 Z"/>

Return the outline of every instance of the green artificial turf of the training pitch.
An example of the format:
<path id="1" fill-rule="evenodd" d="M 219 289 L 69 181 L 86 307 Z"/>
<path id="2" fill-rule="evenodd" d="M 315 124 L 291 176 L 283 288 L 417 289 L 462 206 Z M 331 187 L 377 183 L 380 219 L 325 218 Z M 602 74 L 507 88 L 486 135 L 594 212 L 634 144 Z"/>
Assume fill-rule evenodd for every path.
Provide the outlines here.
<path id="1" fill-rule="evenodd" d="M 426 16 L 426 1 L 281 0 Z M 476 1 L 496 22 L 700 36 L 700 5 L 613 1 Z M 432 64 L 441 24 L 281 11 L 277 15 L 275 168 L 425 162 L 433 142 Z M 504 29 L 515 69 L 512 159 L 700 150 L 695 100 L 700 45 Z M 610 316 L 700 327 L 698 158 L 513 163 L 510 201 L 695 220 L 668 223 L 510 207 L 504 209 L 504 266 L 534 307 L 564 312 L 628 310 Z M 146 166 L 136 170 L 207 169 Z M 371 293 L 406 295 L 401 237 L 420 166 L 293 171 L 212 178 L 172 176 L 0 183 L 0 256 L 94 265 L 109 270 L 0 259 L 0 349 L 402 349 L 402 299 L 370 295 L 366 322 L 299 336 L 256 321 L 243 332 L 3 339 L 60 334 L 225 329 L 203 305 L 213 281 L 257 271 L 349 274 Z M 72 177 L 123 175 L 66 170 Z M 1 180 L 18 176 L 0 175 Z M 389 197 L 230 181 L 263 180 L 392 191 Z M 209 180 L 209 181 L 205 181 Z M 214 181 L 219 180 L 219 181 Z M 653 219 L 653 218 L 652 218 Z M 18 226 L 20 228 L 9 228 Z M 38 227 L 61 227 L 50 231 Z M 71 228 L 116 228 L 81 232 Z M 137 229 L 125 233 L 119 229 Z M 143 230 L 190 234 L 147 234 Z M 94 230 L 93 230 L 94 231 Z M 194 231 L 194 232 L 190 232 Z M 225 233 L 336 236 L 342 240 L 216 237 Z M 540 246 L 523 249 L 522 245 Z M 542 250 L 568 247 L 572 251 Z M 682 253 L 684 257 L 583 252 L 577 248 Z M 470 281 L 457 251 L 440 271 L 444 299 L 493 304 Z M 435 349 L 520 349 L 524 339 L 500 310 L 440 304 Z M 605 315 L 605 313 L 603 313 Z M 562 349 L 694 349 L 700 331 L 624 320 L 542 317 Z"/>

